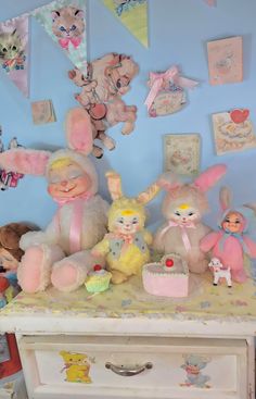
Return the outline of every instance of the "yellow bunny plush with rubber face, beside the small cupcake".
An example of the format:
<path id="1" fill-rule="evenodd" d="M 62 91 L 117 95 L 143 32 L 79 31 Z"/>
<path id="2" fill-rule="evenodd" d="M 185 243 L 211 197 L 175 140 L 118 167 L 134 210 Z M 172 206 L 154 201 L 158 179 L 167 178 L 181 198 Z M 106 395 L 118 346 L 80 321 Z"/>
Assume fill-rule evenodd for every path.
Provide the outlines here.
<path id="1" fill-rule="evenodd" d="M 112 283 L 120 284 L 132 275 L 140 275 L 142 265 L 150 260 L 152 235 L 144 228 L 144 203 L 153 199 L 159 188 L 153 184 L 137 198 L 127 198 L 121 192 L 120 176 L 108 172 L 106 177 L 114 200 L 108 211 L 110 233 L 93 247 L 92 255 L 105 257 Z"/>

